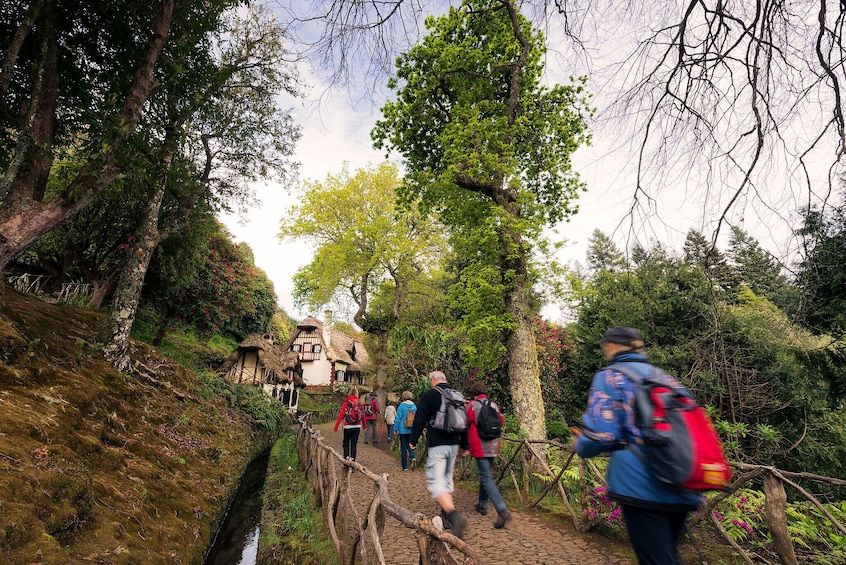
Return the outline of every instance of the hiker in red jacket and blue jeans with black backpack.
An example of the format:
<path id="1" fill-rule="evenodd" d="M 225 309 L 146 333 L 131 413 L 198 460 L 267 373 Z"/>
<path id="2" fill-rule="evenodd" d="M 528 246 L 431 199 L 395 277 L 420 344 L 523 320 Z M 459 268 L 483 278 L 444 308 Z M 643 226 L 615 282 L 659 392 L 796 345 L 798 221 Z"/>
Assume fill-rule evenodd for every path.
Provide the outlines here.
<path id="1" fill-rule="evenodd" d="M 497 513 L 494 528 L 500 529 L 511 520 L 511 512 L 505 506 L 505 501 L 502 500 L 502 495 L 493 480 L 491 465 L 499 455 L 499 430 L 505 423 L 505 418 L 499 411 L 499 406 L 488 399 L 487 392 L 488 387 L 485 386 L 485 383 L 475 382 L 470 385 L 470 395 L 473 397 L 473 400 L 467 403 L 467 422 L 470 427 L 465 436 L 466 441 L 462 443 L 460 453 L 461 455 L 469 454 L 476 459 L 476 470 L 479 473 L 479 498 L 474 509 L 482 516 L 487 516 L 488 500 L 490 500 Z M 482 428 L 487 428 L 486 422 L 480 418 L 482 411 L 486 410 L 486 405 L 490 405 L 490 408 L 493 409 L 490 417 L 496 419 L 495 432 L 493 433 L 487 429 L 482 431 Z M 481 436 L 486 436 L 486 438 Z"/>

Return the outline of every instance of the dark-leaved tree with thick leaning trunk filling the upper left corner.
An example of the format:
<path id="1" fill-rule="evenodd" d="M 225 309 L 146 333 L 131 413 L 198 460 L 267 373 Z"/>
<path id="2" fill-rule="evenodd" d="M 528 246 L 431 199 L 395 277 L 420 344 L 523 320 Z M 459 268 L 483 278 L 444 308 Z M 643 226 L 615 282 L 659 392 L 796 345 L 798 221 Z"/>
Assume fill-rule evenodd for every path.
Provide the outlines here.
<path id="1" fill-rule="evenodd" d="M 153 91 L 174 17 L 195 15 L 190 8 L 175 15 L 173 0 L 154 9 L 141 1 L 92 6 L 36 0 L 7 12 L 7 4 L 3 14 L 11 17 L 0 20 L 0 271 L 118 178 L 125 168 L 120 150 Z M 90 143 L 85 164 L 46 198 L 56 146 L 74 136 Z"/>

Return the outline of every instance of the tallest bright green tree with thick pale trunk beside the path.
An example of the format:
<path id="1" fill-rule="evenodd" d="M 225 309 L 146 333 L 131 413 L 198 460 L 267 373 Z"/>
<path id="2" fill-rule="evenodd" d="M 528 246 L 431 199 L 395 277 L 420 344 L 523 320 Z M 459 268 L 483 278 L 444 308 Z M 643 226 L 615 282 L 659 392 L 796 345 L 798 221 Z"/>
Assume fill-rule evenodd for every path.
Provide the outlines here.
<path id="1" fill-rule="evenodd" d="M 512 401 L 521 429 L 544 438 L 529 256 L 540 229 L 575 209 L 570 155 L 587 140 L 584 86 L 541 84 L 543 35 L 511 0 L 464 2 L 426 27 L 397 60 L 397 99 L 372 136 L 405 159 L 404 202 L 496 234 Z"/>

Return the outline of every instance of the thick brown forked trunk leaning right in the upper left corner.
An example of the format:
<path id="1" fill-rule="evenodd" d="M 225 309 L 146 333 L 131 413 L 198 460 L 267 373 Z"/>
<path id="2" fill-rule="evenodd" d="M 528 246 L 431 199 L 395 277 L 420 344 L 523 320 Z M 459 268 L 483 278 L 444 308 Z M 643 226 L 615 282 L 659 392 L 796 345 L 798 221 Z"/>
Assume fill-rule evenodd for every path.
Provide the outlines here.
<path id="1" fill-rule="evenodd" d="M 173 2 L 174 0 L 161 2 L 150 43 L 139 61 L 132 85 L 127 91 L 118 120 L 120 129 L 114 134 L 105 161 L 86 164 L 71 181 L 68 196 L 56 197 L 49 202 L 41 201 L 52 163 L 49 150 L 52 143 L 55 100 L 52 103 L 49 101 L 49 79 L 45 77 L 38 86 L 38 92 L 33 93 L 36 115 L 32 116 L 31 133 L 28 134 L 32 141 L 29 153 L 33 157 L 27 167 L 21 168 L 26 172 L 14 175 L 9 194 L 0 207 L 0 272 L 15 255 L 35 239 L 87 206 L 121 172 L 115 161 L 117 150 L 135 129 L 144 104 L 152 92 L 155 83 L 153 69 L 173 21 Z M 49 70 L 49 44 L 46 49 L 45 70 Z M 33 150 L 36 148 L 37 150 Z M 43 150 L 48 153 L 42 154 Z"/>

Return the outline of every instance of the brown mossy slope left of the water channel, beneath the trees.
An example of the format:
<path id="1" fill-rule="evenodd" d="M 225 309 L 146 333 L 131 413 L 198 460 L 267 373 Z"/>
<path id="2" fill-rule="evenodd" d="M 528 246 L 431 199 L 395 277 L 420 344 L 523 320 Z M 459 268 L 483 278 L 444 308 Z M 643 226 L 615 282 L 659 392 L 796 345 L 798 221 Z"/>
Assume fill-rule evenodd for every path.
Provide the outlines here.
<path id="1" fill-rule="evenodd" d="M 9 287 L 0 312 L 0 563 L 201 563 L 272 438 L 144 344 L 151 378 L 105 364 L 101 314 Z"/>

